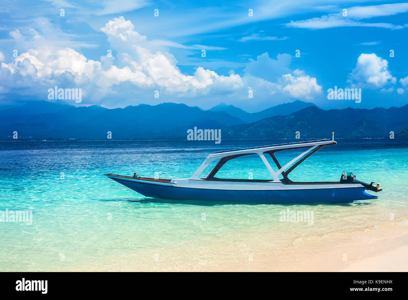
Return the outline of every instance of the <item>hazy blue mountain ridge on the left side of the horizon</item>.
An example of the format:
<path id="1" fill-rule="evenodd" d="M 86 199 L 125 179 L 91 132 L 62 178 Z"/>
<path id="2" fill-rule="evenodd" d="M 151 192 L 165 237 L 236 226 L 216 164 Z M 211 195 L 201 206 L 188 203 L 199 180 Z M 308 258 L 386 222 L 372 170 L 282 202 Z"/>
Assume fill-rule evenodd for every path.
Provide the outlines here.
<path id="1" fill-rule="evenodd" d="M 29 105 L 37 105 L 28 103 Z M 0 111 L 1 140 L 9 140 L 13 131 L 21 139 L 106 139 L 112 132 L 116 139 L 150 139 L 184 136 L 187 129 L 219 129 L 242 124 L 244 121 L 224 111 L 203 111 L 185 104 L 162 103 L 155 106 L 140 104 L 125 108 L 106 109 L 89 107 L 59 107 L 55 103 L 41 102 L 40 109 L 28 114 L 25 105 Z M 48 107 L 49 105 L 49 107 Z M 64 105 L 64 104 L 60 104 Z M 62 108 L 62 109 L 61 109 Z M 40 110 L 44 109 L 44 113 Z"/>

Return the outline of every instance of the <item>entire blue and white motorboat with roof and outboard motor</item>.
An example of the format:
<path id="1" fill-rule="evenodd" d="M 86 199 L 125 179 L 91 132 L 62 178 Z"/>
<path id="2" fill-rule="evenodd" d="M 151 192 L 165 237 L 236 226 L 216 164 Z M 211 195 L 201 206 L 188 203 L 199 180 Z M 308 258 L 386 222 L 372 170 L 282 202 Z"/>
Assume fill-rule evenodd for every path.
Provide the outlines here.
<path id="1" fill-rule="evenodd" d="M 351 172 L 343 172 L 339 181 L 294 182 L 288 175 L 306 158 L 328 145 L 337 142 L 332 139 L 273 144 L 260 147 L 217 151 L 209 154 L 190 178 L 161 179 L 104 174 L 146 197 L 171 200 L 210 200 L 239 202 L 353 202 L 377 199 L 366 191 L 382 191 L 380 184 L 359 181 Z M 281 165 L 276 158 L 278 151 L 305 149 L 290 162 Z M 270 178 L 240 179 L 220 178 L 217 173 L 229 162 L 242 156 L 255 155 L 264 163 Z M 268 159 L 266 158 L 268 157 Z M 270 162 L 273 161 L 273 167 Z M 211 163 L 215 163 L 206 175 L 202 175 Z"/>

